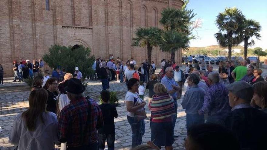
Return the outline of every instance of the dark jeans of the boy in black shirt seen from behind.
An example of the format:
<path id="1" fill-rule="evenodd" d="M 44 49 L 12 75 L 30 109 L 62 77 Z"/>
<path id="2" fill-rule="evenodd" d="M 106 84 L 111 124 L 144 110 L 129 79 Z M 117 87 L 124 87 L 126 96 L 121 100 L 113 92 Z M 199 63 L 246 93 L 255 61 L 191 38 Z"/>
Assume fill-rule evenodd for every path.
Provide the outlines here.
<path id="1" fill-rule="evenodd" d="M 107 142 L 108 150 L 114 150 L 115 134 L 98 134 L 98 149 L 105 149 L 105 141 Z"/>

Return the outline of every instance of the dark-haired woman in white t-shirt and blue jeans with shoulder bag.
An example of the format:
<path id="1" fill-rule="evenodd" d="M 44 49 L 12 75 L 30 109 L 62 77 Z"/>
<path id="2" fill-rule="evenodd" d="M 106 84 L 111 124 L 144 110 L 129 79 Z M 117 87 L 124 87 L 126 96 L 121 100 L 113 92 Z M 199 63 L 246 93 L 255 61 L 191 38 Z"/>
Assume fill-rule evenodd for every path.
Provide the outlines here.
<path id="1" fill-rule="evenodd" d="M 127 120 L 132 128 L 132 147 L 142 144 L 142 136 L 145 132 L 146 118 L 144 112 L 144 102 L 137 93 L 139 81 L 136 78 L 131 78 L 128 81 L 128 91 L 125 96 L 126 108 L 127 108 Z M 143 112 L 143 115 L 142 115 Z"/>

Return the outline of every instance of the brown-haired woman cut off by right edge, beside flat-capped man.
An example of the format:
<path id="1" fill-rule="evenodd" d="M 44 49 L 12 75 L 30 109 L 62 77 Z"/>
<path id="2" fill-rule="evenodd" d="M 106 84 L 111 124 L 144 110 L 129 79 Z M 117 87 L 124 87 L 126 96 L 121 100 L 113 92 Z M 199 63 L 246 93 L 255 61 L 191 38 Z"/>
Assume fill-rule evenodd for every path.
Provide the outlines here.
<path id="1" fill-rule="evenodd" d="M 251 101 L 252 106 L 259 106 L 267 113 L 267 81 L 261 81 L 254 85 L 254 95 Z"/>

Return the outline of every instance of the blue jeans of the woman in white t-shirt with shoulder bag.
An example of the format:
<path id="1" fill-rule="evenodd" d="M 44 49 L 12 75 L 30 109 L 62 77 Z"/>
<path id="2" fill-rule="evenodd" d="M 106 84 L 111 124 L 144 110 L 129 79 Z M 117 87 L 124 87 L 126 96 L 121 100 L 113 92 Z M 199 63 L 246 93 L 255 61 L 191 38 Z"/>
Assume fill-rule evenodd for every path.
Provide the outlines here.
<path id="1" fill-rule="evenodd" d="M 127 115 L 127 120 L 132 128 L 132 147 L 136 147 L 142 144 L 142 137 L 145 133 L 145 121 L 144 119 L 137 121 L 135 117 Z"/>

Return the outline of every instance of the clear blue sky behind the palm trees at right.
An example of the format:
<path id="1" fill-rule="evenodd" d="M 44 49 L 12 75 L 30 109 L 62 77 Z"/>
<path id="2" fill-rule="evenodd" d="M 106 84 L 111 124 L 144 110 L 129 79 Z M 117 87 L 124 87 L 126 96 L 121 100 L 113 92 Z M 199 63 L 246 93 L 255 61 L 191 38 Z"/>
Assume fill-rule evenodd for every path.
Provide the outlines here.
<path id="1" fill-rule="evenodd" d="M 255 46 L 267 49 L 267 0 L 190 0 L 188 9 L 194 9 L 197 15 L 194 19 L 202 20 L 202 27 L 198 28 L 198 39 L 191 40 L 191 47 L 203 47 L 208 45 L 218 45 L 214 34 L 218 32 L 215 19 L 219 12 L 223 12 L 225 7 L 236 7 L 242 10 L 248 19 L 257 20 L 261 26 L 261 40 L 255 40 Z M 243 46 L 243 43 L 240 45 Z M 252 48 L 253 48 L 252 47 Z"/>

